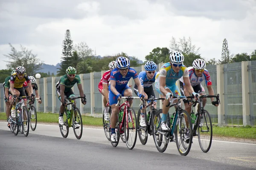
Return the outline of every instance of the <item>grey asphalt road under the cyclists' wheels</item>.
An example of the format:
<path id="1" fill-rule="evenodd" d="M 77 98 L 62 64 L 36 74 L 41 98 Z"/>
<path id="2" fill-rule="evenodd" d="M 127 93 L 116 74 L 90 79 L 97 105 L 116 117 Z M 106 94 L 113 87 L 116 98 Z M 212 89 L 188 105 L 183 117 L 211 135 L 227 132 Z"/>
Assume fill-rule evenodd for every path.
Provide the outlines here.
<path id="1" fill-rule="evenodd" d="M 15 136 L 0 122 L 0 170 L 250 170 L 256 169 L 256 144 L 213 141 L 203 153 L 197 139 L 187 156 L 180 156 L 174 142 L 159 153 L 152 136 L 145 145 L 137 138 L 129 150 L 119 142 L 116 148 L 102 129 L 84 128 L 77 140 L 70 129 L 64 139 L 57 125 L 38 125 L 25 137 Z"/>

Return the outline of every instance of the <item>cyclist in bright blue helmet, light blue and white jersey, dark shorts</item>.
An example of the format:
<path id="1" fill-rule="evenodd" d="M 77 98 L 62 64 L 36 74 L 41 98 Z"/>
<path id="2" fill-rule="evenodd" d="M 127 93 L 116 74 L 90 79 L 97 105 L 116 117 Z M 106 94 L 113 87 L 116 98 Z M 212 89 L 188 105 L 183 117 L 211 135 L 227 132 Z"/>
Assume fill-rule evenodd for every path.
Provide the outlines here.
<path id="1" fill-rule="evenodd" d="M 157 65 L 153 61 L 148 61 L 145 63 L 145 71 L 141 71 L 140 74 L 138 75 L 140 79 L 140 83 L 143 88 L 142 94 L 145 96 L 144 99 L 148 99 L 151 97 L 156 97 L 154 94 L 153 86 L 152 84 L 155 82 L 156 78 L 156 69 Z M 134 92 L 139 96 L 139 91 L 137 85 L 134 85 Z M 149 103 L 150 101 L 148 101 Z M 154 101 L 154 108 L 157 108 L 157 101 Z M 145 109 L 140 109 L 140 114 L 141 114 L 141 119 L 140 119 L 140 126 L 141 127 L 146 127 L 146 122 L 145 122 Z"/>

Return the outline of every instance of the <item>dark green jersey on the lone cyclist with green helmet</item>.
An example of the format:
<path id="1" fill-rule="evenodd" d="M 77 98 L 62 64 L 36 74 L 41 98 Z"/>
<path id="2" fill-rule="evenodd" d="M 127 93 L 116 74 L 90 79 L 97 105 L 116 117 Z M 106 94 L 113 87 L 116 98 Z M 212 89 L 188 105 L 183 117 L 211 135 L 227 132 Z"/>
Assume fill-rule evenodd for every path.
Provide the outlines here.
<path id="1" fill-rule="evenodd" d="M 73 86 L 77 83 L 77 85 L 81 84 L 81 79 L 79 77 L 79 75 L 76 75 L 74 80 L 71 82 L 68 77 L 67 74 L 65 74 L 64 76 L 61 77 L 61 79 L 56 83 L 56 88 L 60 88 L 61 85 L 65 86 L 65 92 L 70 91 L 71 88 L 73 88 Z"/>

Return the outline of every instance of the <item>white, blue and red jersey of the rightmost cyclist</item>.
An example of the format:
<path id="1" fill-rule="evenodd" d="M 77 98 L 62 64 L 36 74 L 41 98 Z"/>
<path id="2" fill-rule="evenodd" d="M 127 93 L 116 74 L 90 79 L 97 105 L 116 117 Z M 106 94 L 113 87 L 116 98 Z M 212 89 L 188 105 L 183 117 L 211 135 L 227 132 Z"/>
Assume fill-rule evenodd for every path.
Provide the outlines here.
<path id="1" fill-rule="evenodd" d="M 200 84 L 201 82 L 203 82 L 205 80 L 206 85 L 212 85 L 212 81 L 211 81 L 211 77 L 209 72 L 207 71 L 207 69 L 204 69 L 204 72 L 202 74 L 201 77 L 197 77 L 195 75 L 195 70 L 193 67 L 189 67 L 189 79 L 190 79 L 190 84 L 192 87 Z M 183 81 L 183 77 L 180 78 L 180 81 L 184 83 Z"/>

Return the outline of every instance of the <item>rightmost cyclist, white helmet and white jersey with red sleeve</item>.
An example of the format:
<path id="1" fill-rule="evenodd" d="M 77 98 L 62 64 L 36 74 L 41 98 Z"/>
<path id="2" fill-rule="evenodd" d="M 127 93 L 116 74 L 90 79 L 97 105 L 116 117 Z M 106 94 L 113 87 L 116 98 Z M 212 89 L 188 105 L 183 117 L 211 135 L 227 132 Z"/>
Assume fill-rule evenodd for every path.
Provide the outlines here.
<path id="1" fill-rule="evenodd" d="M 190 84 L 192 85 L 195 92 L 199 93 L 200 95 L 205 95 L 204 87 L 201 85 L 201 82 L 205 80 L 207 85 L 207 89 L 209 91 L 209 95 L 214 95 L 214 91 L 212 89 L 212 81 L 209 72 L 206 67 L 206 62 L 203 59 L 195 59 L 193 62 L 192 67 L 188 67 L 189 71 L 189 80 Z M 183 95 L 189 95 L 186 86 L 184 85 L 183 77 L 180 78 L 180 90 L 182 91 Z M 212 105 L 218 106 L 218 101 L 214 101 L 214 98 L 211 98 Z M 203 98 L 203 106 L 205 106 L 207 102 L 206 98 Z M 198 111 L 200 106 L 198 105 Z M 185 110 L 190 114 L 191 113 L 191 106 L 185 104 Z"/>

